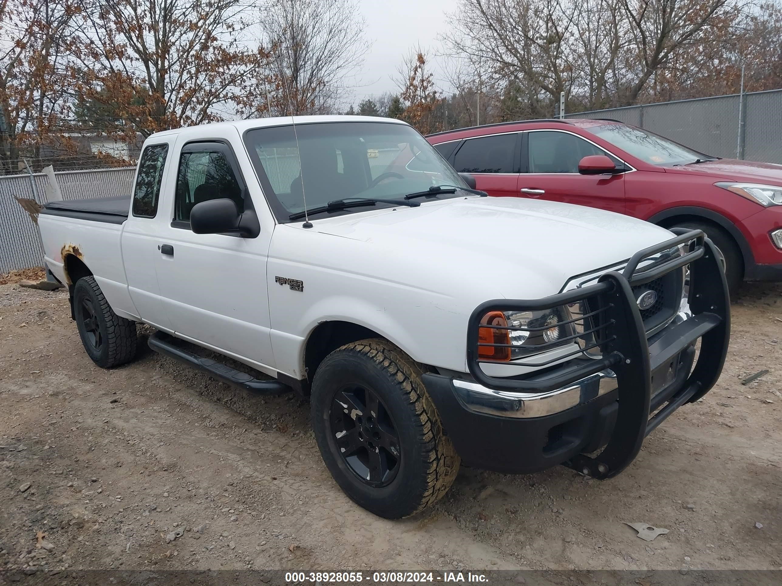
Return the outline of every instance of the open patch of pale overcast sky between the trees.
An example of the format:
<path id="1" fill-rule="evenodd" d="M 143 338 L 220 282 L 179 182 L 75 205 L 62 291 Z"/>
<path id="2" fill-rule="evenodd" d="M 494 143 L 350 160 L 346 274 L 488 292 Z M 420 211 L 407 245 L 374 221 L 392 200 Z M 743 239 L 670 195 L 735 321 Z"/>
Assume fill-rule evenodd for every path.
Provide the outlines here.
<path id="1" fill-rule="evenodd" d="M 457 0 L 361 0 L 371 49 L 356 80 L 355 104 L 368 95 L 398 91 L 393 82 L 396 69 L 415 45 L 420 43 L 433 58 L 433 53 L 441 47 L 439 35 L 447 30 L 445 13 L 453 13 L 456 5 Z M 432 66 L 438 86 L 442 87 L 436 63 Z"/>

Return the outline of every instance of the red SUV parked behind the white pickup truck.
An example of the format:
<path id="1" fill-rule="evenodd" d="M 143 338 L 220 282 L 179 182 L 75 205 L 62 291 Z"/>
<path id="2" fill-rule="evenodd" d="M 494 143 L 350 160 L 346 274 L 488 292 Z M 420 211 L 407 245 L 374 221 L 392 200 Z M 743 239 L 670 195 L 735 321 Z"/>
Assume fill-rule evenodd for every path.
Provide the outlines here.
<path id="1" fill-rule="evenodd" d="M 489 195 L 704 230 L 728 285 L 782 280 L 782 165 L 719 159 L 615 120 L 530 120 L 427 137 Z"/>

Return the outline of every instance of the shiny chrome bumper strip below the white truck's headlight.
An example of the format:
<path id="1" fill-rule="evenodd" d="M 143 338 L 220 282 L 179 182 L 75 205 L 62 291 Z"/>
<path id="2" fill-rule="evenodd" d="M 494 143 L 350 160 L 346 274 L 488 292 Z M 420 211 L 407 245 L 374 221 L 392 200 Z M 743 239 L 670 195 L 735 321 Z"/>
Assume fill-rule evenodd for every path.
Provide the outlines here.
<path id="1" fill-rule="evenodd" d="M 502 417 L 543 417 L 583 405 L 614 391 L 613 370 L 601 370 L 580 381 L 546 393 L 495 391 L 472 381 L 453 380 L 454 392 L 462 406 L 473 413 Z"/>

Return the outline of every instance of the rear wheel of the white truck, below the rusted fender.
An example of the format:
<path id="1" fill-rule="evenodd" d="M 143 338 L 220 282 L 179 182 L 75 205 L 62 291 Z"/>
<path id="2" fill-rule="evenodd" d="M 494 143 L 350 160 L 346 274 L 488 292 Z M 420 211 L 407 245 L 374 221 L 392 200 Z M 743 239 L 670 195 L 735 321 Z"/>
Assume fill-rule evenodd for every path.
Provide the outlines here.
<path id="1" fill-rule="evenodd" d="M 74 285 L 74 317 L 84 350 L 101 368 L 120 366 L 136 355 L 136 323 L 113 312 L 95 277 L 82 277 Z"/>

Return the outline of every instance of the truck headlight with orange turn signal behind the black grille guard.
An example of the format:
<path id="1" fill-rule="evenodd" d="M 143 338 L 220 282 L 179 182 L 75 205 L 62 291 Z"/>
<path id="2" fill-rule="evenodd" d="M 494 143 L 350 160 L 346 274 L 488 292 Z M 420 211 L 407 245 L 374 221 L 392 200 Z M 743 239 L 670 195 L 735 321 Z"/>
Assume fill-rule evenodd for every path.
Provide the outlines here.
<path id="1" fill-rule="evenodd" d="M 478 330 L 481 359 L 508 362 L 561 345 L 572 344 L 572 323 L 565 307 L 538 311 L 491 311 Z M 492 327 L 493 326 L 493 327 Z"/>

